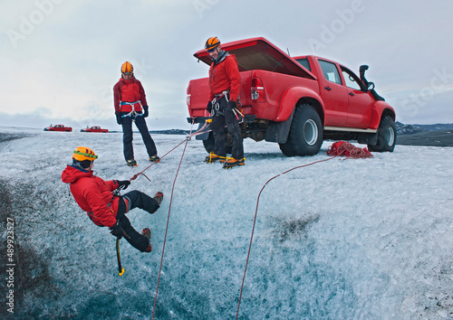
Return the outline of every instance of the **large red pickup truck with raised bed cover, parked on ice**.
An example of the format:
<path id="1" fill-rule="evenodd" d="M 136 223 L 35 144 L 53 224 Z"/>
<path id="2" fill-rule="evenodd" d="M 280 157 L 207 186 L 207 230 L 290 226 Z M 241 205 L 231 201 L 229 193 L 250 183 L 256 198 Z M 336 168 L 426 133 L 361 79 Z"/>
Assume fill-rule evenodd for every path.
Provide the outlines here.
<path id="1" fill-rule="evenodd" d="M 222 43 L 236 55 L 241 74 L 240 103 L 244 137 L 279 144 L 284 155 L 316 155 L 323 139 L 357 140 L 371 151 L 392 152 L 396 143 L 395 110 L 365 78 L 340 63 L 312 55 L 290 57 L 265 38 Z M 210 65 L 205 50 L 194 53 Z M 206 110 L 208 79 L 190 80 L 188 122 L 200 127 Z M 197 136 L 207 152 L 212 132 Z"/>

